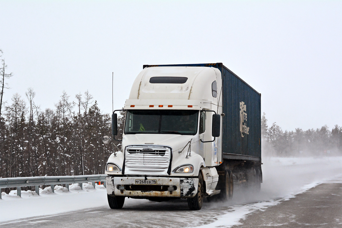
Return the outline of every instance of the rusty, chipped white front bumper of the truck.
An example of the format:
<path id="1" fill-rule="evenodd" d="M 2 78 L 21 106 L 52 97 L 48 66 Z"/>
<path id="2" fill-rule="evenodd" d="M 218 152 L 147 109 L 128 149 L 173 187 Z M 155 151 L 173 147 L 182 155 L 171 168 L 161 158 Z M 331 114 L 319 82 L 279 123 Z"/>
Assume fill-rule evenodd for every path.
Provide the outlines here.
<path id="1" fill-rule="evenodd" d="M 142 180 L 145 177 L 107 176 L 107 194 L 125 197 L 192 198 L 197 193 L 198 178 L 147 177 L 147 180 L 157 181 L 154 185 L 136 185 L 136 179 Z M 169 191 L 170 188 L 174 190 Z"/>

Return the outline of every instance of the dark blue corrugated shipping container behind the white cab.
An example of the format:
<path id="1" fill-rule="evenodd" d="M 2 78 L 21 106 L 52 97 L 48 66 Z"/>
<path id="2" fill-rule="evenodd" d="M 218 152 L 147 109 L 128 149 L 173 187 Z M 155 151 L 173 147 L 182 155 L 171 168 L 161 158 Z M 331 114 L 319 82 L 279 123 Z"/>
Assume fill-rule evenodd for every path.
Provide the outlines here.
<path id="1" fill-rule="evenodd" d="M 222 63 L 144 65 L 216 67 L 222 74 L 222 153 L 226 159 L 261 160 L 261 94 Z"/>

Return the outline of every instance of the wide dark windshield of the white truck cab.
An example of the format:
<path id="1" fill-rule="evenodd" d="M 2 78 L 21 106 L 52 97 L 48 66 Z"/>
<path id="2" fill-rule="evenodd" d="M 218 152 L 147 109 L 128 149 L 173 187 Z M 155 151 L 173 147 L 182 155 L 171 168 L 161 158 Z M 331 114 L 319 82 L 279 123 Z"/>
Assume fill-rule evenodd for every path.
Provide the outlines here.
<path id="1" fill-rule="evenodd" d="M 197 133 L 198 110 L 127 110 L 125 134 Z"/>

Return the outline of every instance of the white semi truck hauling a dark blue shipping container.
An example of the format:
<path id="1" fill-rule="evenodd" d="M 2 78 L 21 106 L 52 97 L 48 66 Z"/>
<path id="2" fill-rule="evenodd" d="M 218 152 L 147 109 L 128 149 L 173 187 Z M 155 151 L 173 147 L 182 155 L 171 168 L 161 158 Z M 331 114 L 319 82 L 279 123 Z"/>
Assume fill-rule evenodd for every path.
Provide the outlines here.
<path id="1" fill-rule="evenodd" d="M 119 110 L 112 115 L 122 142 L 105 169 L 110 208 L 126 197 L 185 198 L 200 210 L 204 198 L 231 199 L 234 184 L 260 189 L 260 96 L 222 63 L 144 65 L 124 105 L 122 139 Z"/>

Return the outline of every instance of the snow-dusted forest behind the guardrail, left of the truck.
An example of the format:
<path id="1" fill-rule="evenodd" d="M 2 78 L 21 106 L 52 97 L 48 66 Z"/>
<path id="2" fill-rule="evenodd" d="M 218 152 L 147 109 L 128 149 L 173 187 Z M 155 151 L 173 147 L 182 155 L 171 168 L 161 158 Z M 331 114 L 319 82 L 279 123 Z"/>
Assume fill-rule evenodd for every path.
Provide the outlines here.
<path id="1" fill-rule="evenodd" d="M 55 108 L 44 111 L 32 89 L 25 95 L 14 94 L 0 117 L 0 176 L 103 174 L 112 148 L 102 137 L 111 134 L 111 122 L 91 94 L 71 102 L 63 92 Z"/>

